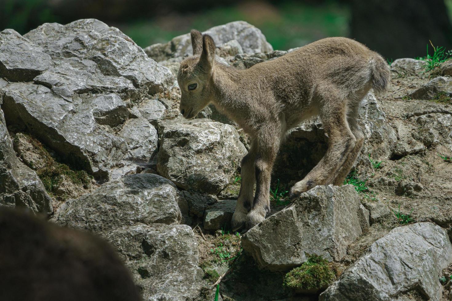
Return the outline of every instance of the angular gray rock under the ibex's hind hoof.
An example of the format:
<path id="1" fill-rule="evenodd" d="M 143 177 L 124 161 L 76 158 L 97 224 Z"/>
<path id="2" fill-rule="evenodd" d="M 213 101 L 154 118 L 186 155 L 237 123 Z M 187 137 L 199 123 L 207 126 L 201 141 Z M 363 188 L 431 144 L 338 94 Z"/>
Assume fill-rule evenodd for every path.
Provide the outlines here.
<path id="1" fill-rule="evenodd" d="M 305 252 L 339 261 L 362 233 L 359 207 L 352 185 L 316 186 L 251 228 L 242 236 L 243 249 L 270 270 L 302 264 Z"/>

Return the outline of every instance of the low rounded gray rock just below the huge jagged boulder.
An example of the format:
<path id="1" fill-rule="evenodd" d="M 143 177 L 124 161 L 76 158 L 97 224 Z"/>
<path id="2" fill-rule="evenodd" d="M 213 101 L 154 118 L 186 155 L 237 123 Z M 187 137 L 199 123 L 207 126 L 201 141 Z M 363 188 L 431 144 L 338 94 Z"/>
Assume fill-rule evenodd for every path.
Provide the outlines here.
<path id="1" fill-rule="evenodd" d="M 182 218 L 177 198 L 171 181 L 150 173 L 135 174 L 67 200 L 52 220 L 99 234 L 138 223 L 177 224 Z"/>

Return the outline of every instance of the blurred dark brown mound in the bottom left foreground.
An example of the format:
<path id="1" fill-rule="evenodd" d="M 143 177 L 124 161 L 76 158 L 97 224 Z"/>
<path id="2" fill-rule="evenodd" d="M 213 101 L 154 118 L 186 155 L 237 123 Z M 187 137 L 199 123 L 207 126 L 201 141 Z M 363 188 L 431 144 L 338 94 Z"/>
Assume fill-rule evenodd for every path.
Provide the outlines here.
<path id="1" fill-rule="evenodd" d="M 0 300 L 139 301 L 132 275 L 106 241 L 0 207 Z"/>

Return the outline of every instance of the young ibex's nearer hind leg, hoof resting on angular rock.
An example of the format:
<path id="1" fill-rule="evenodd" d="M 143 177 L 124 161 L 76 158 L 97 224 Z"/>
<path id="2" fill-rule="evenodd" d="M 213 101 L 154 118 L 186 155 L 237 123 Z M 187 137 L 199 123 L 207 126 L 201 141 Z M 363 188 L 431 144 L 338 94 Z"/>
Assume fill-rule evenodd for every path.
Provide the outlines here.
<path id="1" fill-rule="evenodd" d="M 328 149 L 307 176 L 293 185 L 290 190 L 292 201 L 316 185 L 332 184 L 335 172 L 345 163 L 357 141 L 348 125 L 347 101 L 331 90 L 317 93 L 316 97 L 321 106 L 320 118 L 329 138 Z"/>

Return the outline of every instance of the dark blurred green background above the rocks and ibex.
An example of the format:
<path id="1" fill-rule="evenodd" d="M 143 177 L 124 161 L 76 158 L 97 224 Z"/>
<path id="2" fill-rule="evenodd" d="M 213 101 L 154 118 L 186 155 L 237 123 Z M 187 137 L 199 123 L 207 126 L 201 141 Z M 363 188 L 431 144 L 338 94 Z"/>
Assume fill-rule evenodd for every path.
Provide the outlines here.
<path id="1" fill-rule="evenodd" d="M 274 49 L 352 37 L 388 60 L 452 49 L 452 0 L 0 0 L 0 30 L 96 18 L 141 47 L 236 20 L 260 28 Z M 430 46 L 431 47 L 431 46 Z M 429 51 L 432 51 L 430 49 Z"/>

